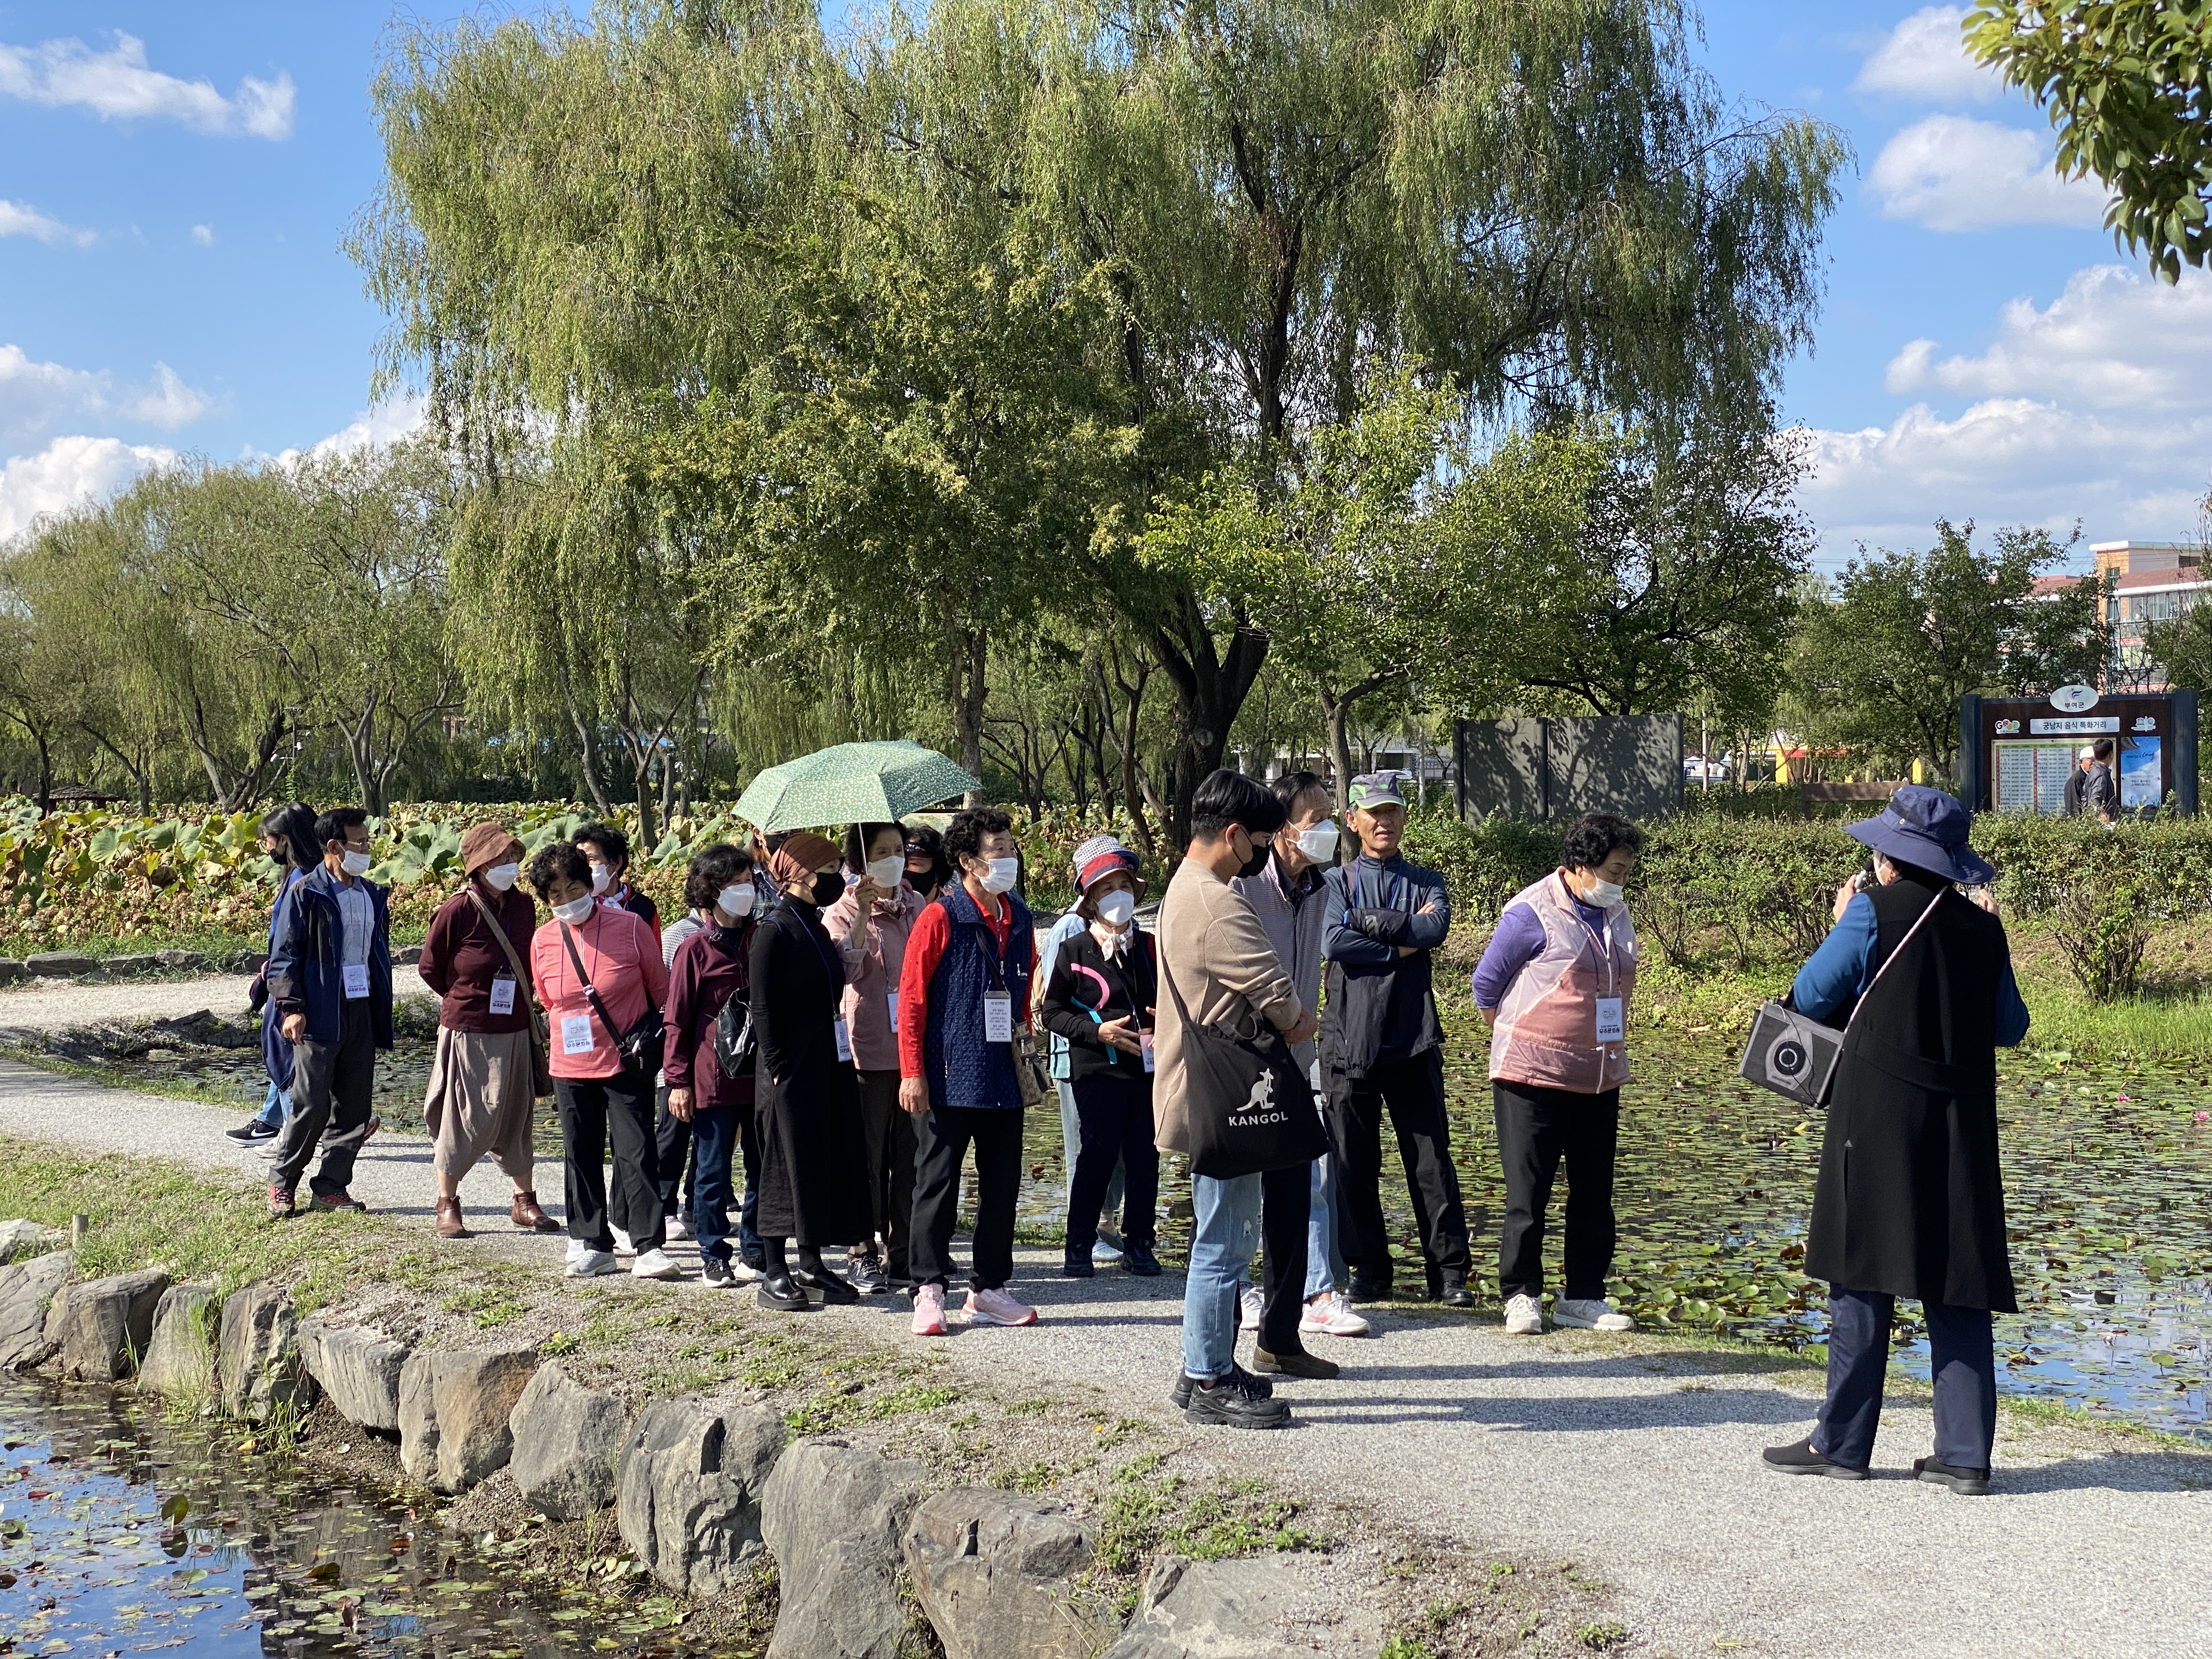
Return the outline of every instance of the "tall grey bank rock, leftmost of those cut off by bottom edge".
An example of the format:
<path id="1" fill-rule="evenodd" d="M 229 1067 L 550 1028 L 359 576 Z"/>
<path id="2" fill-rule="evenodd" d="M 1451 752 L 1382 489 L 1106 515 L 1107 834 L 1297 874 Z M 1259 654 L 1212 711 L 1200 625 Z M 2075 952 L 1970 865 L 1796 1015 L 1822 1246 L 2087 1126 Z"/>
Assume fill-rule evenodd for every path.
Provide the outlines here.
<path id="1" fill-rule="evenodd" d="M 761 1493 L 781 1608 L 768 1659 L 894 1659 L 907 1639 L 898 1540 L 925 1469 L 836 1440 L 783 1453 Z"/>

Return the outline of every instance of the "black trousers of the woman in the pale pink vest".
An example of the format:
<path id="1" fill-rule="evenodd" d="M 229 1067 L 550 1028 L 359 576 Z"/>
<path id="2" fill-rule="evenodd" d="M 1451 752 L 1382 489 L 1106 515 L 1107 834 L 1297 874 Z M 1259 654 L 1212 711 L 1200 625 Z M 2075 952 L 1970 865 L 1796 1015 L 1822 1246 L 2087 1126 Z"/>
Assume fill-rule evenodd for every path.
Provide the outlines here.
<path id="1" fill-rule="evenodd" d="M 1621 1091 L 1577 1095 L 1568 1088 L 1491 1082 L 1498 1117 L 1498 1161 L 1506 1172 L 1506 1219 L 1498 1230 L 1498 1294 L 1544 1294 L 1544 1212 L 1551 1183 L 1566 1161 L 1568 1301 L 1597 1301 L 1613 1272 L 1613 1148 L 1621 1128 Z"/>

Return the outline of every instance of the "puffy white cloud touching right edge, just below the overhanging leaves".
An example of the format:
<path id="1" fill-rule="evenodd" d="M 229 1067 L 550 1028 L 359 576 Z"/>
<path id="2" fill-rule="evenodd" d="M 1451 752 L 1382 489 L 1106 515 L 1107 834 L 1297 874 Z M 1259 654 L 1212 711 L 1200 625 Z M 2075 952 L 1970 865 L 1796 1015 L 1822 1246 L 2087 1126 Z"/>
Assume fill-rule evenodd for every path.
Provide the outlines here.
<path id="1" fill-rule="evenodd" d="M 2011 301 L 1980 356 L 1936 356 L 1913 341 L 1882 376 L 1891 392 L 2057 398 L 2128 411 L 2212 414 L 2212 276 L 2166 285 L 2124 265 L 2090 265 L 2044 310 Z"/>

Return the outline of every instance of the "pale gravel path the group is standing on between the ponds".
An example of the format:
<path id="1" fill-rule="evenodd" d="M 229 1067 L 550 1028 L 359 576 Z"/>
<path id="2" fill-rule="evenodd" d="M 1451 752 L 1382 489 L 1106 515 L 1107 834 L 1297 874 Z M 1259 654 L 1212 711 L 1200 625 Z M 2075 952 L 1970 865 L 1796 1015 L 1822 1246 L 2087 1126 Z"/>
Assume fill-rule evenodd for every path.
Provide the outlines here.
<path id="1" fill-rule="evenodd" d="M 131 1011 L 148 1013 L 155 991 L 161 1006 L 177 998 L 177 1011 L 210 1006 L 221 984 L 201 980 L 190 995 L 139 987 Z M 27 995 L 42 993 L 9 995 L 0 1024 L 18 1022 L 13 1004 Z M 221 1139 L 232 1119 L 0 1062 L 4 1135 L 259 1172 L 259 1157 Z M 354 1192 L 427 1225 L 427 1141 L 378 1135 Z M 555 1164 L 542 1179 L 557 1192 Z M 462 1194 L 471 1212 L 504 1210 L 504 1181 L 489 1168 Z M 560 1270 L 560 1239 L 502 1232 L 484 1243 Z M 1000 1387 L 1009 1374 L 1040 1389 L 1095 1385 L 1133 1416 L 1161 1413 L 1181 1281 L 1064 1281 L 1053 1261 L 1024 1252 L 1018 1285 L 1044 1323 L 956 1327 L 956 1363 Z M 816 1316 L 911 1340 L 902 1301 Z M 1809 1425 L 1818 1380 L 1805 1369 L 1644 1338 L 1509 1340 L 1458 1316 L 1374 1318 L 1369 1340 L 1314 1338 L 1345 1374 L 1287 1383 L 1296 1427 L 1241 1436 L 1237 1460 L 1290 1491 L 1365 1500 L 1431 1535 L 1546 1566 L 1577 1562 L 1619 1588 L 1639 1652 L 2212 1655 L 2208 1453 L 2008 1416 L 1997 1493 L 1960 1500 L 1909 1478 L 1931 1422 L 1924 1405 L 1896 1400 L 1880 1480 L 1787 1480 L 1759 1467 L 1759 1449 Z"/>

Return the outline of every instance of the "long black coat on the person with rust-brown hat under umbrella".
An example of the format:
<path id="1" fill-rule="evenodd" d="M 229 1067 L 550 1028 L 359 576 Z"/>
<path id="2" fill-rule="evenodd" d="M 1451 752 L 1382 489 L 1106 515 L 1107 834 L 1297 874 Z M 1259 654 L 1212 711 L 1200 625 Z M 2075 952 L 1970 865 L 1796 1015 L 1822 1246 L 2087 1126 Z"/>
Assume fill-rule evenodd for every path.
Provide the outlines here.
<path id="1" fill-rule="evenodd" d="M 761 1214 L 768 1239 L 849 1245 L 867 1239 L 867 1141 L 860 1082 L 836 1057 L 845 967 L 821 911 L 785 898 L 752 929 L 752 1029 L 761 1053 Z"/>

